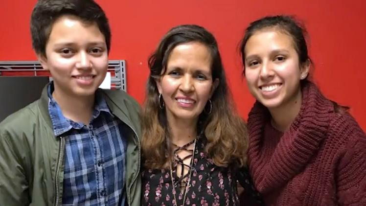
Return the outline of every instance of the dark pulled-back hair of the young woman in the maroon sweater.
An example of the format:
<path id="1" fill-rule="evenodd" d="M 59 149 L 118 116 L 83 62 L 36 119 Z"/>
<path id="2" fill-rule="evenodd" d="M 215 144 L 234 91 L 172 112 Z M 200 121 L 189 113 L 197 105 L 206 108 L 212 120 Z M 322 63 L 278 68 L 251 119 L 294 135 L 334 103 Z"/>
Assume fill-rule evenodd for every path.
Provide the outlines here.
<path id="1" fill-rule="evenodd" d="M 247 29 L 245 30 L 243 40 L 240 43 L 240 52 L 244 66 L 244 71 L 245 71 L 245 51 L 244 51 L 245 45 L 247 44 L 249 38 L 251 38 L 256 31 L 265 28 L 279 29 L 280 31 L 284 32 L 285 34 L 289 35 L 292 38 L 300 65 L 312 62 L 308 55 L 308 47 L 305 40 L 305 35 L 307 34 L 307 32 L 305 27 L 302 26 L 301 23 L 299 23 L 295 19 L 295 17 L 292 16 L 286 16 L 286 15 L 267 16 L 250 23 Z"/>

